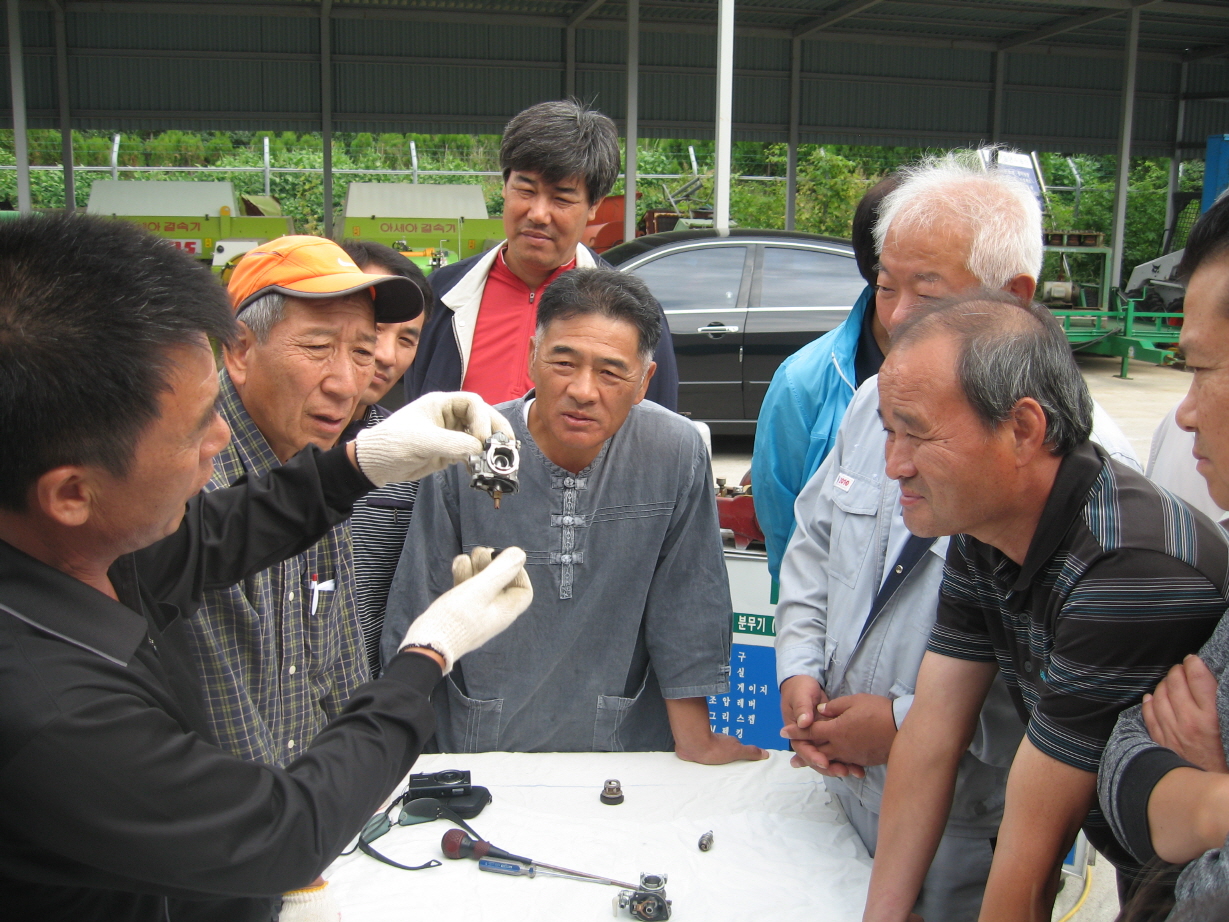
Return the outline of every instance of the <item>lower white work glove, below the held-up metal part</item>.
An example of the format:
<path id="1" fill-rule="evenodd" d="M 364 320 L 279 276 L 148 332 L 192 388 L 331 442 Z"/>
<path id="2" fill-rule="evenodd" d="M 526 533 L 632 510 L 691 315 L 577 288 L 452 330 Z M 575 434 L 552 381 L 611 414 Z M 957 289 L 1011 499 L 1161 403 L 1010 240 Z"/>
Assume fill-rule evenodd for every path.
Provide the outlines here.
<path id="1" fill-rule="evenodd" d="M 429 647 L 444 658 L 444 675 L 469 650 L 511 625 L 530 607 L 533 588 L 525 572 L 525 552 L 506 547 L 492 559 L 489 547 L 452 561 L 452 589 L 415 618 L 401 648 Z"/>

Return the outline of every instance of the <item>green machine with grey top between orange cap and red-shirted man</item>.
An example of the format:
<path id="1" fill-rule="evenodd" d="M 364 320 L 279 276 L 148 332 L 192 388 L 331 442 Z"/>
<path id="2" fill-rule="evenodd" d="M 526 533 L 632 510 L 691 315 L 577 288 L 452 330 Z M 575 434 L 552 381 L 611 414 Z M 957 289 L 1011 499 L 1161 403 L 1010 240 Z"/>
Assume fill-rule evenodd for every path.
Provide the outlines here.
<path id="1" fill-rule="evenodd" d="M 504 238 L 504 223 L 487 215 L 481 186 L 351 182 L 344 214 L 344 238 L 391 246 L 426 273 Z"/>

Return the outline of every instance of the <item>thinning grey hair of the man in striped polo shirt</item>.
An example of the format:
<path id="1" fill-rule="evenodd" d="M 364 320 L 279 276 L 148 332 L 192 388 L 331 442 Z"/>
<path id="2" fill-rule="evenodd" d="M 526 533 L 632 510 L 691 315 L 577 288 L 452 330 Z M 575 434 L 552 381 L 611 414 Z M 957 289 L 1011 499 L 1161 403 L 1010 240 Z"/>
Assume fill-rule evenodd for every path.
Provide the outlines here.
<path id="1" fill-rule="evenodd" d="M 892 334 L 892 349 L 936 333 L 956 341 L 956 380 L 993 430 L 1031 397 L 1046 414 L 1046 444 L 1069 455 L 1093 431 L 1093 396 L 1054 315 L 1040 304 L 983 289 L 917 307 Z"/>

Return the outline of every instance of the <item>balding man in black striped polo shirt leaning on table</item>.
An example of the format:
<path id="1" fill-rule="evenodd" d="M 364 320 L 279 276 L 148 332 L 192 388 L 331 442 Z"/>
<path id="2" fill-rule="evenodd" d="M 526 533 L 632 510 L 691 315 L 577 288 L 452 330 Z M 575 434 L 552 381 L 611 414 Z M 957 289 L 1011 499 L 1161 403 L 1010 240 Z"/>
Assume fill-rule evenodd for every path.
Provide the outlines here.
<path id="1" fill-rule="evenodd" d="M 1214 629 L 1229 545 L 1089 443 L 1088 387 L 1041 306 L 983 291 L 918 310 L 879 392 L 906 525 L 956 537 L 887 763 L 864 918 L 909 917 L 995 671 L 1026 735 L 981 918 L 1048 918 L 1082 826 L 1120 888 L 1138 872 L 1096 809 L 1097 762 L 1117 714 Z"/>

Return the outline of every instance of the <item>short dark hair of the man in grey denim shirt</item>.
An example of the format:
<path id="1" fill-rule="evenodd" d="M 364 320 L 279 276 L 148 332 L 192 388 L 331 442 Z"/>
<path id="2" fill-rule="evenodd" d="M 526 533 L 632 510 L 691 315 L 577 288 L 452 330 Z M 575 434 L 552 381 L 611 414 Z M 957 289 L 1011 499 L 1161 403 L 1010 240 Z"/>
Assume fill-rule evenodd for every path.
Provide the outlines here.
<path id="1" fill-rule="evenodd" d="M 653 361 L 661 339 L 661 305 L 635 275 L 614 269 L 573 269 L 552 282 L 538 300 L 537 332 L 553 321 L 601 313 L 635 327 L 640 358 Z"/>

